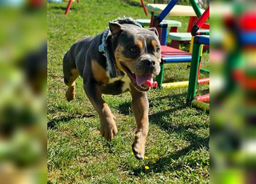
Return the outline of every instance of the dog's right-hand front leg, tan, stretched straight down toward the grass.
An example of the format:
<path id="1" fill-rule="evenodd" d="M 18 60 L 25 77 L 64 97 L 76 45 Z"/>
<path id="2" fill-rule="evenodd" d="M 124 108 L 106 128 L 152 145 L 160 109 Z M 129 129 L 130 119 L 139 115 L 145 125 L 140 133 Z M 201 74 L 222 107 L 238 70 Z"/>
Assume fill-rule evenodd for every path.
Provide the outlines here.
<path id="1" fill-rule="evenodd" d="M 132 110 L 135 116 L 137 131 L 132 144 L 133 154 L 137 159 L 144 159 L 145 144 L 148 134 L 148 99 L 146 92 L 131 87 Z"/>

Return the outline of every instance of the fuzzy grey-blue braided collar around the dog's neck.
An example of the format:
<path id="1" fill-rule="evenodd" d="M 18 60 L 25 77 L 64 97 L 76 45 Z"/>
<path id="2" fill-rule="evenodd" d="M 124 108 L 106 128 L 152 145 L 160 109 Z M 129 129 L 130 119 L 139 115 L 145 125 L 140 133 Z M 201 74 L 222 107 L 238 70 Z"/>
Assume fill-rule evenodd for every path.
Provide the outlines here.
<path id="1" fill-rule="evenodd" d="M 119 24 L 133 24 L 142 28 L 142 25 L 139 22 L 133 20 L 132 18 L 118 18 L 113 22 L 117 22 Z M 105 30 L 102 36 L 102 42 L 98 47 L 98 51 L 102 53 L 106 57 L 106 71 L 109 73 L 110 78 L 115 78 L 117 76 L 124 76 L 124 73 L 119 70 L 116 66 L 116 60 L 114 59 L 113 53 L 110 52 L 110 45 L 108 45 L 108 37 L 111 35 L 109 28 Z"/>

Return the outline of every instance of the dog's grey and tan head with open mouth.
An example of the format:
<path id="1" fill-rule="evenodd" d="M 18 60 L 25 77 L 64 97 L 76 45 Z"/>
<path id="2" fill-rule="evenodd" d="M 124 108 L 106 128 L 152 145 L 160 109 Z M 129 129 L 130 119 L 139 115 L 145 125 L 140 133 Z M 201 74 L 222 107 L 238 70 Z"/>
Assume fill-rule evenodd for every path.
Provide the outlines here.
<path id="1" fill-rule="evenodd" d="M 148 91 L 160 72 L 161 47 L 155 28 L 109 23 L 111 45 L 117 67 L 139 91 Z"/>

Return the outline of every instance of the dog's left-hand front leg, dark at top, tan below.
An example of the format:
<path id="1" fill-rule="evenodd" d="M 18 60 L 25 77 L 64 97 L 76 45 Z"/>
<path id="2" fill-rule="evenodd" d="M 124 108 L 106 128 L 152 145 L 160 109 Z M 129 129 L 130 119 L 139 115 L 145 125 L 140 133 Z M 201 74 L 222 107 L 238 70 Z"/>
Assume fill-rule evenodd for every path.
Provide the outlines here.
<path id="1" fill-rule="evenodd" d="M 114 121 L 114 116 L 108 104 L 102 99 L 100 86 L 89 80 L 84 82 L 83 86 L 91 104 L 93 104 L 94 109 L 100 115 L 101 135 L 104 136 L 106 140 L 112 140 L 117 133 L 116 122 Z"/>

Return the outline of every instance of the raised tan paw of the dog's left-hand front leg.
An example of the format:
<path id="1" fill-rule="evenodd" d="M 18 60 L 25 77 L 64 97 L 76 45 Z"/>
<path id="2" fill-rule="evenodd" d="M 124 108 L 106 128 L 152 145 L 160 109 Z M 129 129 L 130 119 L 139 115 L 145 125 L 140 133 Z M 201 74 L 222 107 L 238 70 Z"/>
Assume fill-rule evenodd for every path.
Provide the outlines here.
<path id="1" fill-rule="evenodd" d="M 111 141 L 116 134 L 116 122 L 114 122 L 113 118 L 107 118 L 101 121 L 101 135 L 105 137 L 106 140 Z"/>

